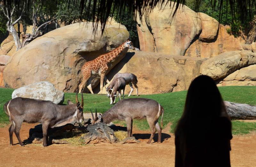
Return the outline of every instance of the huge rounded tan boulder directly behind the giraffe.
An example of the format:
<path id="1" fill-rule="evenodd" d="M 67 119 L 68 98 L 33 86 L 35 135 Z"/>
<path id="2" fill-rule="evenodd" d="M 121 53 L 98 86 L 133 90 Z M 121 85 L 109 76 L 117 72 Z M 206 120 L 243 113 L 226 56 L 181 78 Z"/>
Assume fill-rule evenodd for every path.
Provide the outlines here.
<path id="1" fill-rule="evenodd" d="M 100 25 L 95 32 L 92 26 L 92 22 L 83 22 L 60 27 L 21 48 L 4 69 L 5 87 L 18 88 L 49 81 L 58 90 L 75 92 L 81 80 L 82 65 L 129 38 L 125 26 L 117 23 L 108 24 L 103 34 Z M 108 71 L 125 56 L 126 51 L 108 64 Z M 98 75 L 94 76 L 92 87 L 99 80 Z"/>

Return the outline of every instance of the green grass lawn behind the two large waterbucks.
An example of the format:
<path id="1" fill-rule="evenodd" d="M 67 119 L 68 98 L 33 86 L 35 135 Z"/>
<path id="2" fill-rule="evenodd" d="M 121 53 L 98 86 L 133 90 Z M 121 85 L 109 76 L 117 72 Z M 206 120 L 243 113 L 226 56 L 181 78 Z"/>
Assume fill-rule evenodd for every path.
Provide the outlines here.
<path id="1" fill-rule="evenodd" d="M 256 87 L 253 86 L 232 86 L 219 87 L 223 100 L 237 103 L 246 103 L 256 105 Z M 0 124 L 8 124 L 9 120 L 3 111 L 3 105 L 11 99 L 13 89 L 0 88 Z M 75 93 L 65 93 L 64 104 L 70 99 L 75 102 Z M 171 132 L 177 121 L 179 120 L 185 104 L 187 91 L 157 94 L 157 95 L 140 95 L 139 97 L 154 99 L 164 107 L 163 123 L 166 126 L 169 122 L 172 123 Z M 81 96 L 78 96 L 79 100 Z M 132 95 L 125 98 L 137 98 Z M 109 104 L 109 99 L 105 95 L 84 94 L 84 112 L 90 112 L 90 109 L 104 113 L 113 105 Z M 160 117 L 161 119 L 161 117 Z M 146 120 L 134 120 L 134 125 L 141 130 L 148 130 L 149 126 Z M 237 120 L 232 121 L 233 134 L 247 134 L 256 130 L 256 123 L 245 123 Z"/>

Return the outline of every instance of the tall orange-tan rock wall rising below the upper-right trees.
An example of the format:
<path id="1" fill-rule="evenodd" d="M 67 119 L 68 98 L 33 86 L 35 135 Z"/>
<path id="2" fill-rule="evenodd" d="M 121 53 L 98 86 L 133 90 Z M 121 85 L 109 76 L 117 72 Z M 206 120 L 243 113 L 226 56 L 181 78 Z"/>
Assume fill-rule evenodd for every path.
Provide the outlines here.
<path id="1" fill-rule="evenodd" d="M 252 50 L 244 45 L 242 37 L 228 34 L 228 26 L 220 25 L 216 19 L 180 5 L 172 18 L 176 6 L 167 1 L 151 13 L 136 18 L 142 51 L 164 53 L 172 56 L 214 57 L 223 52 Z"/>

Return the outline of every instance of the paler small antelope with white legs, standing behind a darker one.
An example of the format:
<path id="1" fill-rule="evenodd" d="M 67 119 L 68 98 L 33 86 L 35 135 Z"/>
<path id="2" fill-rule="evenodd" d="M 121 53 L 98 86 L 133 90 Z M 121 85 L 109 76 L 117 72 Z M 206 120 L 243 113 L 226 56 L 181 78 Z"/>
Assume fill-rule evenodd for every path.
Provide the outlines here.
<path id="1" fill-rule="evenodd" d="M 138 83 L 138 80 L 137 80 L 137 76 L 132 74 L 132 73 L 117 73 L 115 76 L 114 76 L 114 79 L 113 81 L 110 83 L 110 85 L 107 87 L 108 89 L 106 89 L 107 91 L 107 95 L 110 95 L 111 91 L 112 91 L 112 88 L 114 87 L 115 85 L 115 80 L 116 78 L 119 78 L 119 77 L 124 77 L 125 79 L 125 84 L 126 85 L 130 85 L 131 87 L 131 91 L 128 95 L 128 97 L 131 95 L 132 91 L 133 91 L 133 87 L 132 87 L 132 84 L 134 85 L 134 87 L 137 89 L 137 96 L 139 95 L 138 93 L 138 86 L 137 86 L 137 83 Z M 110 93 L 109 93 L 110 92 Z"/>

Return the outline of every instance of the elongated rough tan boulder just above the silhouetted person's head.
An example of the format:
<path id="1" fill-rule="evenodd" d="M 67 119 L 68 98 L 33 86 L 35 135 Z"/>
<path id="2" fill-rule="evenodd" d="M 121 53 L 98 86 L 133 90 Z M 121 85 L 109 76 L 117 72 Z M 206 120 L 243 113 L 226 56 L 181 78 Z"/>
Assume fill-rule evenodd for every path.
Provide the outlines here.
<path id="1" fill-rule="evenodd" d="M 204 61 L 200 73 L 218 80 L 240 68 L 254 64 L 256 64 L 256 53 L 246 50 L 224 52 Z"/>

